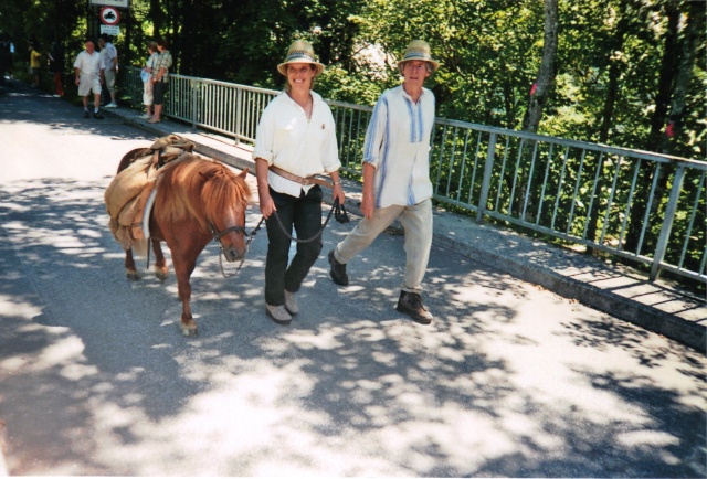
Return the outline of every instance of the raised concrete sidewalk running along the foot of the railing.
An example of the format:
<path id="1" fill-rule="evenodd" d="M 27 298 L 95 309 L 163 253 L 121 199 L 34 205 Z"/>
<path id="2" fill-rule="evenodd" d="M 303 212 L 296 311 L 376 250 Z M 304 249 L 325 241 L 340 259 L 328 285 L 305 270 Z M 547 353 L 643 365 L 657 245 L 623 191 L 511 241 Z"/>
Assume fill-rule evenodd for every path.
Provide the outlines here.
<path id="1" fill-rule="evenodd" d="M 139 113 L 129 108 L 103 111 L 156 137 L 177 134 L 189 138 L 202 156 L 239 169 L 249 168 L 251 172 L 255 170 L 247 146 L 235 146 L 230 138 L 199 132 L 168 119 L 148 124 L 139 119 Z M 360 215 L 360 184 L 345 180 L 344 187 L 347 210 Z M 325 200 L 330 202 L 327 193 L 330 192 L 325 191 Z M 434 222 L 434 241 L 439 245 L 703 353 L 707 350 L 707 300 L 671 281 L 651 283 L 646 275 L 626 266 L 588 257 L 489 224 L 479 225 L 443 209 L 435 210 Z"/>

